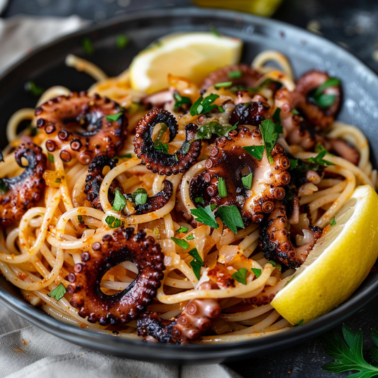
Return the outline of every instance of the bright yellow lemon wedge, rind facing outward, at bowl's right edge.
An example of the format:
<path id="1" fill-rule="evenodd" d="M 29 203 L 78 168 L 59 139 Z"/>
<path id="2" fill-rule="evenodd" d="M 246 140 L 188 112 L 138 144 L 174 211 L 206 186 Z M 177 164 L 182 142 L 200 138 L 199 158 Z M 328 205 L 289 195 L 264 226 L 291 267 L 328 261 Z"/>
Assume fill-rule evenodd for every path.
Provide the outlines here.
<path id="1" fill-rule="evenodd" d="M 312 321 L 348 299 L 378 256 L 378 194 L 357 187 L 321 238 L 272 301 L 291 324 Z"/>

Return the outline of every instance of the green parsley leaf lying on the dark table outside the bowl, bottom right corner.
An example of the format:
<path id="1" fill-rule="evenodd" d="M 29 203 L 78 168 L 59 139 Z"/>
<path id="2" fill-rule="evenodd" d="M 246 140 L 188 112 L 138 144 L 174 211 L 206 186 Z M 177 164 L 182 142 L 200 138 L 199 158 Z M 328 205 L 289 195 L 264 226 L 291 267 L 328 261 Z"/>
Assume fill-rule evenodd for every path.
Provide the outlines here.
<path id="1" fill-rule="evenodd" d="M 354 378 L 372 378 L 377 377 L 378 367 L 369 365 L 362 355 L 362 330 L 357 333 L 353 332 L 348 326 L 343 324 L 343 338 L 337 333 L 326 333 L 322 338 L 322 346 L 324 352 L 335 361 L 328 362 L 328 364 L 321 367 L 327 372 L 340 373 L 348 372 L 350 370 L 358 370 L 358 373 L 352 374 L 349 377 Z M 377 330 L 372 330 L 372 338 L 376 345 Z M 372 358 L 377 358 L 377 348 L 370 350 Z"/>

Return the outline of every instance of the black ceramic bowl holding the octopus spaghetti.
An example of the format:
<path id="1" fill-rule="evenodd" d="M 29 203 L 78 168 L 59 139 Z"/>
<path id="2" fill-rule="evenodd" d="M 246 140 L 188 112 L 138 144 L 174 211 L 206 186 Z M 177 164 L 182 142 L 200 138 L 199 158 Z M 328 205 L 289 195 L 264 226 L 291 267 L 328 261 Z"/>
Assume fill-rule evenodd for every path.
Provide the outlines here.
<path id="1" fill-rule="evenodd" d="M 339 119 L 359 126 L 367 135 L 372 150 L 378 146 L 375 129 L 378 118 L 378 79 L 365 65 L 343 48 L 305 30 L 266 18 L 243 13 L 206 9 L 160 9 L 116 18 L 99 26 L 79 31 L 32 52 L 0 78 L 0 130 L 5 140 L 5 127 L 11 114 L 23 107 L 35 106 L 35 98 L 24 91 L 33 80 L 40 86 L 64 85 L 72 91 L 87 89 L 93 80 L 87 74 L 64 65 L 67 54 L 89 58 L 110 76 L 116 76 L 130 64 L 133 56 L 156 38 L 178 31 L 209 30 L 244 40 L 243 61 L 267 49 L 284 52 L 291 60 L 296 76 L 316 68 L 326 70 L 343 82 L 343 109 Z M 116 49 L 116 35 L 125 33 L 130 44 Z M 94 43 L 93 56 L 85 56 L 83 38 Z M 5 144 L 5 143 L 4 143 Z M 375 165 L 375 157 L 372 157 Z M 216 363 L 272 353 L 304 342 L 333 328 L 367 304 L 378 293 L 378 273 L 369 274 L 350 299 L 330 313 L 286 333 L 240 343 L 221 345 L 157 345 L 142 341 L 122 340 L 117 336 L 96 333 L 61 323 L 23 300 L 16 287 L 0 277 L 0 301 L 18 315 L 48 332 L 101 352 L 165 364 Z"/>

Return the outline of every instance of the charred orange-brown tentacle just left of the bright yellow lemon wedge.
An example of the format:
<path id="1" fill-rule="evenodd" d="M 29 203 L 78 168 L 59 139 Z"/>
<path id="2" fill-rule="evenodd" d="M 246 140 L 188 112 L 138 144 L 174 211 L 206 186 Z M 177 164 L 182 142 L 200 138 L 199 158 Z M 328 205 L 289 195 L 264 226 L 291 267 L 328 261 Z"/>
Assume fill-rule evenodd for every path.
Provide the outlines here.
<path id="1" fill-rule="evenodd" d="M 260 226 L 261 248 L 267 260 L 279 261 L 290 268 L 296 268 L 304 263 L 323 230 L 318 226 L 309 226 L 313 233 L 312 240 L 301 247 L 294 247 L 286 227 L 286 208 L 276 201 L 274 210 Z"/>

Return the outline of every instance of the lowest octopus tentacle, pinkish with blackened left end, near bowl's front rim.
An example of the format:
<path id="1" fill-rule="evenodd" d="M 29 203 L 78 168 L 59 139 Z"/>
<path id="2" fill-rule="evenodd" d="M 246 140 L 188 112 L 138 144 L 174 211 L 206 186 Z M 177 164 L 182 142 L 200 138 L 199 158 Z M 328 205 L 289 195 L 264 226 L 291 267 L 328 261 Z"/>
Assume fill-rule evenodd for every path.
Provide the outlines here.
<path id="1" fill-rule="evenodd" d="M 199 289 L 213 289 L 204 282 Z M 221 315 L 221 306 L 216 299 L 193 299 L 174 321 L 161 319 L 157 313 L 145 313 L 138 320 L 139 336 L 152 336 L 161 343 L 189 343 L 199 340 L 202 333 L 211 328 L 211 319 Z"/>

